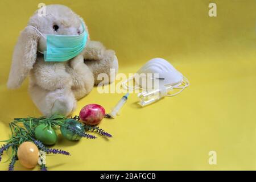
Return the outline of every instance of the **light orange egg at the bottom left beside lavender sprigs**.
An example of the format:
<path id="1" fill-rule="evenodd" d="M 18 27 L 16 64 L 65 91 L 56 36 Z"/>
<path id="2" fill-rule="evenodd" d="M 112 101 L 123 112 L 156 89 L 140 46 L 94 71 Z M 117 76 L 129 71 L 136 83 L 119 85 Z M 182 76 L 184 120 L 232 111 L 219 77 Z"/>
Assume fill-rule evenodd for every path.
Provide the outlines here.
<path id="1" fill-rule="evenodd" d="M 32 142 L 23 142 L 18 148 L 18 159 L 20 164 L 26 168 L 34 168 L 38 164 L 39 150 Z"/>

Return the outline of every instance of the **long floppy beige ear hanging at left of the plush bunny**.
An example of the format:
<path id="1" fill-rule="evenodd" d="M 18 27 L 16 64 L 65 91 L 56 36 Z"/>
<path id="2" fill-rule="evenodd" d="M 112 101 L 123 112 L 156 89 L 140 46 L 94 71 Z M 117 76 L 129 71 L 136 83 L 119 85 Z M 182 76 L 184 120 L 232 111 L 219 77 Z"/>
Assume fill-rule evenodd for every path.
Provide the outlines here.
<path id="1" fill-rule="evenodd" d="M 39 38 L 40 35 L 31 26 L 26 27 L 20 33 L 18 42 L 14 48 L 13 62 L 7 82 L 8 88 L 19 88 L 32 69 L 36 61 Z"/>

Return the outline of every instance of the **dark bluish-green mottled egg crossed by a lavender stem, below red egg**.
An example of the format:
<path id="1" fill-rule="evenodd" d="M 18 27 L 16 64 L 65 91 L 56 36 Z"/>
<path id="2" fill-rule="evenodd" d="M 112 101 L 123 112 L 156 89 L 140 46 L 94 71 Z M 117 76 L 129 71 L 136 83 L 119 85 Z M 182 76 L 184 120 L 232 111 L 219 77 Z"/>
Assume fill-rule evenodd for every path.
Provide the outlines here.
<path id="1" fill-rule="evenodd" d="M 76 129 L 80 133 L 84 133 L 84 126 L 79 121 L 76 121 L 75 119 L 67 119 L 64 126 L 60 127 L 61 134 L 63 137 L 67 138 L 71 141 L 80 140 L 82 137 L 78 135 L 73 129 Z"/>

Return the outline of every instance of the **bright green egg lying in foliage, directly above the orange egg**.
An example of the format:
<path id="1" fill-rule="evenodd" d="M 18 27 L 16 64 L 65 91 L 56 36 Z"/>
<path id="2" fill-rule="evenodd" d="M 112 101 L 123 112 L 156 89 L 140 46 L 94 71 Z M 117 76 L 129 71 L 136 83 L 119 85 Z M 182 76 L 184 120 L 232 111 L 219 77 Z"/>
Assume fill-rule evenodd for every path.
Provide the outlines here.
<path id="1" fill-rule="evenodd" d="M 35 129 L 35 138 L 43 144 L 52 145 L 57 142 L 57 135 L 51 126 L 41 124 Z"/>

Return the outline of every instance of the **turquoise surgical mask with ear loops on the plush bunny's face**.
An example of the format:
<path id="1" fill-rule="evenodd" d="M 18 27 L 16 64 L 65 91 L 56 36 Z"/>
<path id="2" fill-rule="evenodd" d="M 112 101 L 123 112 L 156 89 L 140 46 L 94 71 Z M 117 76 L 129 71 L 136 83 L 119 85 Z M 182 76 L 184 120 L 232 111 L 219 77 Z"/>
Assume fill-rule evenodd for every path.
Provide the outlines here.
<path id="1" fill-rule="evenodd" d="M 33 26 L 30 26 L 33 27 Z M 43 35 L 37 28 L 43 39 L 46 40 L 46 50 L 39 51 L 44 54 L 44 61 L 62 62 L 68 61 L 79 55 L 85 48 L 88 34 L 82 23 L 83 32 L 80 35 Z"/>

